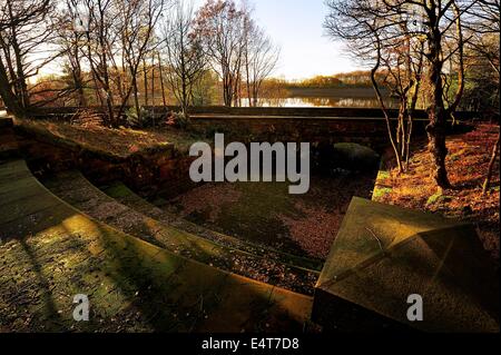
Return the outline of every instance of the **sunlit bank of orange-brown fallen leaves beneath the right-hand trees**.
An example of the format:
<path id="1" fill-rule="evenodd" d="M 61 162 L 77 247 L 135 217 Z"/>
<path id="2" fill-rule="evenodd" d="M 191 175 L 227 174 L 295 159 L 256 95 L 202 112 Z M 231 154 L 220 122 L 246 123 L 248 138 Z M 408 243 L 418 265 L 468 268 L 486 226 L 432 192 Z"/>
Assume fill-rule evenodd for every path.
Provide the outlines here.
<path id="1" fill-rule="evenodd" d="M 470 132 L 449 137 L 446 167 L 452 188 L 443 190 L 430 178 L 432 160 L 425 141 L 415 142 L 409 171 L 399 176 L 392 168 L 386 174 L 380 174 L 380 191 L 374 199 L 474 224 L 485 249 L 499 267 L 499 157 L 491 187 L 485 196 L 482 195 L 482 184 L 498 132 L 499 126 L 477 124 Z"/>

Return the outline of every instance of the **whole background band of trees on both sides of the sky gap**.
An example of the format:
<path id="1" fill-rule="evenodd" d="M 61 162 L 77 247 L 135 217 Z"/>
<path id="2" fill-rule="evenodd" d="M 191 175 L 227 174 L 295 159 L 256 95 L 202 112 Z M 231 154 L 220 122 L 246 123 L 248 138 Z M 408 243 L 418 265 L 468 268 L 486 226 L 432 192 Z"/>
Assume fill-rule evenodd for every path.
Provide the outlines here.
<path id="1" fill-rule="evenodd" d="M 187 119 L 190 106 L 373 88 L 399 171 L 409 166 L 414 111 L 425 109 L 433 176 L 450 187 L 454 112 L 499 118 L 500 1 L 325 4 L 326 33 L 367 70 L 288 82 L 272 78 L 279 49 L 245 1 L 207 0 L 195 11 L 181 0 L 0 0 L 1 99 L 19 117 L 43 106 L 100 107 L 105 125 L 119 127 L 147 118 L 148 106 L 175 103 Z M 42 76 L 48 68 L 55 73 Z M 395 122 L 386 95 L 399 102 Z"/>

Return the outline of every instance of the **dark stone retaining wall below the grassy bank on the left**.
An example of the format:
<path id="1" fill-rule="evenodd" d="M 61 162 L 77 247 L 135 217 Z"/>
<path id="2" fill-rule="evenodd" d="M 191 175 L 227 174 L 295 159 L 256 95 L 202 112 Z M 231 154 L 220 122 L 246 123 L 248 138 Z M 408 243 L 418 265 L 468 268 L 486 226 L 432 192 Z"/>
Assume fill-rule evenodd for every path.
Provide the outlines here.
<path id="1" fill-rule="evenodd" d="M 163 189 L 176 196 L 196 186 L 188 174 L 194 158 L 180 154 L 173 145 L 117 157 L 24 127 L 18 126 L 16 131 L 23 156 L 39 176 L 78 169 L 98 185 L 120 180 L 145 195 Z"/>

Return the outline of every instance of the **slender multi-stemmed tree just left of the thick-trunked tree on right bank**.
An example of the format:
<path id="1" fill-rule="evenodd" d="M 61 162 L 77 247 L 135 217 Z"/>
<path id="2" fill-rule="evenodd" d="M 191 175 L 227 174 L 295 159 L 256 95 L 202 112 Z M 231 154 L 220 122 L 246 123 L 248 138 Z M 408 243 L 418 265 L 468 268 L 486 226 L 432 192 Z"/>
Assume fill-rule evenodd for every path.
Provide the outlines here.
<path id="1" fill-rule="evenodd" d="M 385 117 L 399 172 L 403 172 L 409 162 L 413 112 L 423 72 L 424 45 L 414 36 L 414 19 L 405 9 L 396 11 L 377 1 L 330 1 L 327 6 L 328 33 L 345 40 L 358 60 L 372 65 L 371 81 Z M 383 98 L 382 85 L 399 98 L 395 122 Z"/>

